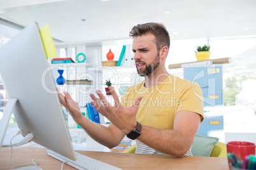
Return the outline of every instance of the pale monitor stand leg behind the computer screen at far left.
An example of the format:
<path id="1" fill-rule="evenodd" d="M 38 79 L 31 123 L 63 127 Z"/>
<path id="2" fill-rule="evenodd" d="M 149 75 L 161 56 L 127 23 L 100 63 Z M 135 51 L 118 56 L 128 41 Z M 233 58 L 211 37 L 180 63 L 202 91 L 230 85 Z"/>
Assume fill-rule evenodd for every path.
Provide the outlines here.
<path id="1" fill-rule="evenodd" d="M 17 101 L 18 101 L 18 98 L 10 98 L 7 102 L 6 107 L 4 108 L 4 114 L 0 121 L 1 122 L 1 124 L 0 124 L 0 150 L 2 147 L 2 143 L 4 140 L 6 130 L 8 128 L 11 114 L 13 112 L 13 108 L 15 107 L 15 104 Z"/>

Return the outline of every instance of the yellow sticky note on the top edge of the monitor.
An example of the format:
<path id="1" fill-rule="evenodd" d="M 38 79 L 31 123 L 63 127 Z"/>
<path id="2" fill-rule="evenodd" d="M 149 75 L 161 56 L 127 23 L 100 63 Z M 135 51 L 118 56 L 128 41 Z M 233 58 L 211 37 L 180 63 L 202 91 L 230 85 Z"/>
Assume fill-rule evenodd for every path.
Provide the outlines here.
<path id="1" fill-rule="evenodd" d="M 45 48 L 46 58 L 53 58 L 57 56 L 55 46 L 53 44 L 53 39 L 50 34 L 49 25 L 45 25 L 45 27 L 39 30 L 41 39 L 43 41 L 43 47 Z"/>

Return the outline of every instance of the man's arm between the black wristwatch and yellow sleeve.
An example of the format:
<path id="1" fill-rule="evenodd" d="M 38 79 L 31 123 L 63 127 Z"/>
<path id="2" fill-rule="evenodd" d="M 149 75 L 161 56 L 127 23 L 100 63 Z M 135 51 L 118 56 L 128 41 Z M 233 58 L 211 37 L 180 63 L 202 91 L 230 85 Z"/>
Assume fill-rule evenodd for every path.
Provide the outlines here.
<path id="1" fill-rule="evenodd" d="M 192 145 L 200 122 L 199 114 L 180 111 L 175 115 L 173 130 L 142 125 L 141 135 L 137 139 L 160 152 L 183 157 Z"/>

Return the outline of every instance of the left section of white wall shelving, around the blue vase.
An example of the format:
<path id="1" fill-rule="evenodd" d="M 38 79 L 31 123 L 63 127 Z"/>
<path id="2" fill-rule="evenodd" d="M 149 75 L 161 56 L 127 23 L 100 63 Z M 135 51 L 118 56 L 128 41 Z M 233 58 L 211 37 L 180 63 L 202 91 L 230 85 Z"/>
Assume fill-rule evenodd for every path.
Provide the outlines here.
<path id="1" fill-rule="evenodd" d="M 101 63 L 101 42 L 78 42 L 66 43 L 61 42 L 55 44 L 57 57 L 70 57 L 76 62 L 76 55 L 83 53 L 86 56 L 85 63 L 63 63 L 51 64 L 53 70 L 53 78 L 56 80 L 59 77 L 57 69 L 63 69 L 63 77 L 67 80 L 89 80 L 91 84 L 67 84 L 57 86 L 61 91 L 68 91 L 73 100 L 75 100 L 80 107 L 84 107 L 90 99 L 90 93 L 96 94 L 96 89 L 102 89 L 102 73 L 96 72 L 94 69 Z M 49 60 L 49 62 L 51 62 Z"/>

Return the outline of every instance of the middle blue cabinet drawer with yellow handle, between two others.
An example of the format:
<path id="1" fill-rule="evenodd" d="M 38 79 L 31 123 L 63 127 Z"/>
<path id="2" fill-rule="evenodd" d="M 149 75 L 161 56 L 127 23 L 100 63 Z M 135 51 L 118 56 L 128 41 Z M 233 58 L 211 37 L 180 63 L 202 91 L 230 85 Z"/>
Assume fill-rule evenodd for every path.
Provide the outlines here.
<path id="1" fill-rule="evenodd" d="M 222 93 L 203 93 L 204 107 L 222 105 Z"/>

